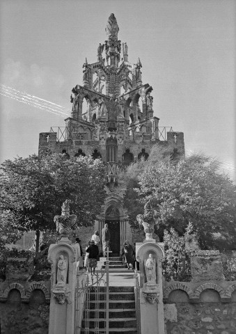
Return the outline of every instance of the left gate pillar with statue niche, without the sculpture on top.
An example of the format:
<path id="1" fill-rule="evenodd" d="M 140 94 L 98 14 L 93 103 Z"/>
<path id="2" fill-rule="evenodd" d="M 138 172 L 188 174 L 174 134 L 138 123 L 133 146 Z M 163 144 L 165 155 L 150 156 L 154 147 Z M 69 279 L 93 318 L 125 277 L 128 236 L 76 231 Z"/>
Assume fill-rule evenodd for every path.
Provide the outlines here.
<path id="1" fill-rule="evenodd" d="M 52 262 L 49 334 L 74 334 L 77 259 L 67 237 L 49 247 L 48 259 Z"/>

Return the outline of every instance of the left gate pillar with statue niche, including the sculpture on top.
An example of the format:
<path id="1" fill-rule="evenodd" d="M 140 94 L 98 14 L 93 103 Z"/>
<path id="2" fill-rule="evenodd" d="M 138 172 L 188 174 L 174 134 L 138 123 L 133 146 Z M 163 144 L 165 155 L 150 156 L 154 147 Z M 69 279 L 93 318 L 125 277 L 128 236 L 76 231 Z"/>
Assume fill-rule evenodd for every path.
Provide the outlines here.
<path id="1" fill-rule="evenodd" d="M 68 239 L 72 228 L 77 229 L 77 216 L 70 214 L 70 200 L 63 202 L 61 216 L 55 216 L 54 222 L 61 240 L 48 250 L 48 260 L 52 263 L 49 334 L 74 334 L 74 294 L 80 248 Z"/>

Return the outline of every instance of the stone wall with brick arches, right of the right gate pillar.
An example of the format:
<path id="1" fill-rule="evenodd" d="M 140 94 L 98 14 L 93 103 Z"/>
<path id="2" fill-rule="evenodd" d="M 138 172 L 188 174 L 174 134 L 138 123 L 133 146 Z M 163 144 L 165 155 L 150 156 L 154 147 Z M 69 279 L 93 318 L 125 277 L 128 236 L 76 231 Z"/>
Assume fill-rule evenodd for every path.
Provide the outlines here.
<path id="1" fill-rule="evenodd" d="M 166 334 L 233 334 L 236 332 L 236 281 L 166 283 Z"/>

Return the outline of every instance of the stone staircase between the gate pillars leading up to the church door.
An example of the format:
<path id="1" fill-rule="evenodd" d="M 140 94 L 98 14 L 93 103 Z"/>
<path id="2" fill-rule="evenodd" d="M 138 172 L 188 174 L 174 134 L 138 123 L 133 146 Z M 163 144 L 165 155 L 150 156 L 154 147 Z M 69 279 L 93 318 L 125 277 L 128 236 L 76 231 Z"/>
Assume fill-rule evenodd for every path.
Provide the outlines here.
<path id="1" fill-rule="evenodd" d="M 103 265 L 105 266 L 105 264 Z M 122 263 L 122 257 L 111 257 L 109 272 L 127 273 L 130 271 Z M 87 312 L 82 321 L 81 333 L 106 333 L 106 287 L 100 287 L 99 293 L 91 289 Z M 97 300 L 96 300 L 97 299 Z M 98 329 L 99 328 L 99 329 Z M 109 334 L 136 334 L 136 311 L 134 287 L 109 287 Z"/>

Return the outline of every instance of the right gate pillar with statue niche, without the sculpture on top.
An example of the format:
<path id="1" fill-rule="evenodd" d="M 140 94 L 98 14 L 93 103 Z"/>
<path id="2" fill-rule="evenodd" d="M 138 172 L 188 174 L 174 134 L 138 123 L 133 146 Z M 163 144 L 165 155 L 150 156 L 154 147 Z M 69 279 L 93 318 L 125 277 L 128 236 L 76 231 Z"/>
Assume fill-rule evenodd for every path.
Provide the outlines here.
<path id="1" fill-rule="evenodd" d="M 162 260 L 164 245 L 136 243 L 136 260 L 140 269 L 141 333 L 164 334 Z"/>

